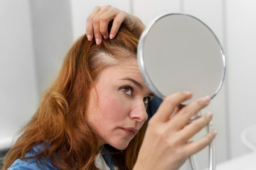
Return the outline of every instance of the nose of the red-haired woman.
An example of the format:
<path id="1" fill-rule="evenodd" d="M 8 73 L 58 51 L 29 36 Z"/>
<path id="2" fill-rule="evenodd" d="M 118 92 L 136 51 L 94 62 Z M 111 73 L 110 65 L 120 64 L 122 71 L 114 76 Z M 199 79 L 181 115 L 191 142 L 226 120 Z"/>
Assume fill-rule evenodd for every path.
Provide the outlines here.
<path id="1" fill-rule="evenodd" d="M 143 101 L 137 100 L 134 102 L 133 107 L 131 108 L 130 117 L 138 122 L 147 120 L 147 112 Z"/>

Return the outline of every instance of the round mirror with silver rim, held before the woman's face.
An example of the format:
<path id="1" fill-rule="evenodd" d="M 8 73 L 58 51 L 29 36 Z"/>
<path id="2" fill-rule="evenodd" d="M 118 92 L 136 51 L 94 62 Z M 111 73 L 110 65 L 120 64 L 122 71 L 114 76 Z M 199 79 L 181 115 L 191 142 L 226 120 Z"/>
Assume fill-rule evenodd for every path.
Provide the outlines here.
<path id="1" fill-rule="evenodd" d="M 225 76 L 225 57 L 216 35 L 185 14 L 163 15 L 146 27 L 139 40 L 138 65 L 147 86 L 161 99 L 178 91 L 192 92 L 191 100 L 213 98 Z"/>

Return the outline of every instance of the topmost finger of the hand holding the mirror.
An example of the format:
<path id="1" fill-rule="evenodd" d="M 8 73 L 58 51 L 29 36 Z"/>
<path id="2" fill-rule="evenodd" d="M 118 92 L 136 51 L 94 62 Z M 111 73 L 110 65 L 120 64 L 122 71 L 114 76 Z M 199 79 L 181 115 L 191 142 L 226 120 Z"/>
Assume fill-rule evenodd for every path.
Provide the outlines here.
<path id="1" fill-rule="evenodd" d="M 160 105 L 156 114 L 151 118 L 152 121 L 163 121 L 170 120 L 170 116 L 174 113 L 176 107 L 192 97 L 191 92 L 177 92 L 174 95 L 166 97 L 163 103 Z M 175 116 L 174 116 L 175 117 Z"/>

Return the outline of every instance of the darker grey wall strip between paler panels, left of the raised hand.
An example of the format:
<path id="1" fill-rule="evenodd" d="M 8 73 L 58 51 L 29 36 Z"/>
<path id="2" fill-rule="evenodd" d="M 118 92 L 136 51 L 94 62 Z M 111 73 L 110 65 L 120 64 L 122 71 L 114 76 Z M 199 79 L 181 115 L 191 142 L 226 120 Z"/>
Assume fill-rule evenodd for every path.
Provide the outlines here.
<path id="1" fill-rule="evenodd" d="M 31 0 L 30 7 L 40 100 L 72 45 L 71 8 L 69 0 Z"/>

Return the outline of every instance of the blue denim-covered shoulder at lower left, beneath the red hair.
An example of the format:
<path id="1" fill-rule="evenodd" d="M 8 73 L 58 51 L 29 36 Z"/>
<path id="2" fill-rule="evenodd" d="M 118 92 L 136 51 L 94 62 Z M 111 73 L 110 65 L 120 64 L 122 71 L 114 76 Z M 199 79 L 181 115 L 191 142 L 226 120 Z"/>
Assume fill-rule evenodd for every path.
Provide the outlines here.
<path id="1" fill-rule="evenodd" d="M 42 146 L 38 145 L 35 146 L 31 149 L 31 152 L 28 152 L 26 154 L 27 160 L 22 160 L 22 159 L 16 159 L 15 162 L 8 168 L 9 170 L 13 169 L 24 169 L 24 170 L 29 170 L 29 169 L 54 169 L 57 170 L 58 168 L 53 165 L 51 160 L 49 158 L 30 158 L 31 156 L 34 156 L 36 154 L 39 154 L 42 152 Z"/>

